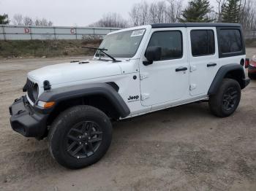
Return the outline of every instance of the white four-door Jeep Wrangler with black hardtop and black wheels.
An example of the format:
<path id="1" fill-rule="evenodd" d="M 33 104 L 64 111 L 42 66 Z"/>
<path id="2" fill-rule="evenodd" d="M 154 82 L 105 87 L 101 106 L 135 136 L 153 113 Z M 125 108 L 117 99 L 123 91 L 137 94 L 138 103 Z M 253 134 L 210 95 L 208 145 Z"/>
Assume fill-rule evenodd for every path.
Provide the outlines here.
<path id="1" fill-rule="evenodd" d="M 245 46 L 238 24 L 170 23 L 105 36 L 94 58 L 28 74 L 10 106 L 12 129 L 48 136 L 50 154 L 67 168 L 96 163 L 110 147 L 110 120 L 123 120 L 195 101 L 218 117 L 235 112 Z"/>

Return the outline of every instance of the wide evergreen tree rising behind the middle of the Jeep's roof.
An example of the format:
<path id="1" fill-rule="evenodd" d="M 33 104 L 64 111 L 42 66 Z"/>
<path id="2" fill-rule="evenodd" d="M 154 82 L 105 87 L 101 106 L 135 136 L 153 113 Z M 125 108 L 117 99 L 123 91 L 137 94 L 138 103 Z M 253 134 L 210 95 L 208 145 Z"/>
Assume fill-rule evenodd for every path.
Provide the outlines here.
<path id="1" fill-rule="evenodd" d="M 214 21 L 208 16 L 211 9 L 208 0 L 189 1 L 189 6 L 182 12 L 179 21 L 182 23 L 210 23 Z"/>

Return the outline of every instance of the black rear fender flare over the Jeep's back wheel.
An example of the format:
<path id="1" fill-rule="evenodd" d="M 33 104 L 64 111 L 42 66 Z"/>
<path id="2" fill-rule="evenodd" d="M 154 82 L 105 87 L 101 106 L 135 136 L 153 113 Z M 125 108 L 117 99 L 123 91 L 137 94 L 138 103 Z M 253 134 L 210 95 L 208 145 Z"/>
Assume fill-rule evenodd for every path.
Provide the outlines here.
<path id="1" fill-rule="evenodd" d="M 230 63 L 219 68 L 219 71 L 217 71 L 217 74 L 214 77 L 214 81 L 211 83 L 211 87 L 208 90 L 208 95 L 214 95 L 217 93 L 217 90 L 219 90 L 219 87 L 222 84 L 222 80 L 230 71 L 239 72 L 239 84 L 241 86 L 241 89 L 244 89 L 244 87 L 249 85 L 249 79 L 246 79 L 245 77 L 243 66 L 237 63 Z"/>

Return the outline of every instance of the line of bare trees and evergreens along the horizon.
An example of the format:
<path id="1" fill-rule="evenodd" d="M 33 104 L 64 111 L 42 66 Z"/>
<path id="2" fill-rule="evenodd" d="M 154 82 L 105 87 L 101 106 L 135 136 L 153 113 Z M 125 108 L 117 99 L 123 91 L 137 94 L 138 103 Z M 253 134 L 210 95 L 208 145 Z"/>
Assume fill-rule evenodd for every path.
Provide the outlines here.
<path id="1" fill-rule="evenodd" d="M 118 27 L 141 26 L 150 23 L 241 23 L 245 30 L 256 29 L 255 0 L 215 0 L 213 7 L 209 0 L 190 0 L 186 7 L 182 0 L 157 0 L 152 3 L 141 1 L 133 4 L 129 19 L 117 13 L 108 13 L 89 26 Z M 8 24 L 8 15 L 0 15 L 0 24 Z M 25 26 L 52 26 L 50 20 L 32 19 L 17 14 L 12 23 Z"/>

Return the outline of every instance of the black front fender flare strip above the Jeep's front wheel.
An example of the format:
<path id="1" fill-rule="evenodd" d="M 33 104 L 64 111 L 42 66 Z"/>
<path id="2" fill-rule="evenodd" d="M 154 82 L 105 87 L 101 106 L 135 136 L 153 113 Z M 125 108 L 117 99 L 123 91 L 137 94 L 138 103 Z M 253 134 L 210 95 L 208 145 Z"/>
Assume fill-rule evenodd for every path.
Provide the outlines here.
<path id="1" fill-rule="evenodd" d="M 113 106 L 116 108 L 118 114 L 120 117 L 124 118 L 127 117 L 130 114 L 129 107 L 124 102 L 123 98 L 121 98 L 121 95 L 118 94 L 118 92 L 109 84 L 107 83 L 94 83 L 94 84 L 86 84 L 86 85 L 75 85 L 75 86 L 69 86 L 69 87 L 60 87 L 53 90 L 48 90 L 42 93 L 42 95 L 39 96 L 37 101 L 54 101 L 56 102 L 55 106 L 57 106 L 61 101 L 67 101 L 69 99 L 73 98 L 81 98 L 86 95 L 103 95 L 113 104 Z M 37 109 L 42 111 L 42 108 L 40 109 L 37 106 Z M 43 112 L 51 112 L 54 109 L 48 109 Z"/>

